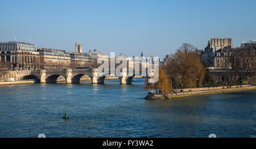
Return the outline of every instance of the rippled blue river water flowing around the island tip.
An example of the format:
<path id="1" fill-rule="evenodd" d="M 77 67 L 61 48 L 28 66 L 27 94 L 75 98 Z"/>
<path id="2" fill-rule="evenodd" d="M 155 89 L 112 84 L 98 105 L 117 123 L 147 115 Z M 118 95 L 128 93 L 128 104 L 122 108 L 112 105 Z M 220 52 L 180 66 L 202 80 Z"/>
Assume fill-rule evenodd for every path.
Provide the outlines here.
<path id="1" fill-rule="evenodd" d="M 256 136 L 256 90 L 144 100 L 147 92 L 144 79 L 0 86 L 0 137 Z"/>

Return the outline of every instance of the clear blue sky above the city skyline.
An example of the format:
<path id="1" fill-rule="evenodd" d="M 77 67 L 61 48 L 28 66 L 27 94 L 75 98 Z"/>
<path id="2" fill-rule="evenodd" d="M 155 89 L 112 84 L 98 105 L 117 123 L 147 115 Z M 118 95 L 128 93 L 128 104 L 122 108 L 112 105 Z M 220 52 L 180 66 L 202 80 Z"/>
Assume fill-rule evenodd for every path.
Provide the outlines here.
<path id="1" fill-rule="evenodd" d="M 163 58 L 189 42 L 205 48 L 213 37 L 234 46 L 256 40 L 256 1 L 1 1 L 0 42 L 31 43 L 73 52 L 121 52 Z"/>

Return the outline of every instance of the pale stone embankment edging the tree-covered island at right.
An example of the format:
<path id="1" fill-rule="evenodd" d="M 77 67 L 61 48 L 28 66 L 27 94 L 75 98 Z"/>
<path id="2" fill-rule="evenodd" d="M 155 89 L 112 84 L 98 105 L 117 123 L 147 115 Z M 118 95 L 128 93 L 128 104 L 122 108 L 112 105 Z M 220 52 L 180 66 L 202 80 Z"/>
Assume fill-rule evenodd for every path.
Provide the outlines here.
<path id="1" fill-rule="evenodd" d="M 204 90 L 203 90 L 204 89 Z M 185 89 L 183 89 L 185 90 Z M 196 96 L 196 95 L 210 95 L 215 93 L 225 93 L 225 92 L 237 92 L 237 91 L 244 91 L 244 90 L 256 90 L 256 86 L 233 86 L 231 88 L 227 87 L 215 87 L 215 88 L 193 88 L 193 90 L 197 91 L 188 91 L 188 92 L 176 92 L 168 95 L 147 95 L 145 99 L 152 99 L 152 100 L 165 100 L 165 99 L 172 99 L 176 97 L 187 97 L 187 96 Z M 186 90 L 185 90 L 186 91 Z"/>

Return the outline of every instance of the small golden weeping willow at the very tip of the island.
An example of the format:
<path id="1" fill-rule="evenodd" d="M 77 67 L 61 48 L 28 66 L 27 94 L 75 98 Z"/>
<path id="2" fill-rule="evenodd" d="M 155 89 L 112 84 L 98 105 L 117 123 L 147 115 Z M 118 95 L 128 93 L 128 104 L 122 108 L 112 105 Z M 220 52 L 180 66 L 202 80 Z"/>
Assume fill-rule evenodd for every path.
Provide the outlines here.
<path id="1" fill-rule="evenodd" d="M 146 78 L 146 89 L 147 90 L 156 90 L 156 93 L 160 90 L 162 92 L 171 93 L 172 85 L 170 79 L 166 74 L 164 68 L 159 68 L 159 79 L 156 83 L 149 83 L 148 77 Z"/>

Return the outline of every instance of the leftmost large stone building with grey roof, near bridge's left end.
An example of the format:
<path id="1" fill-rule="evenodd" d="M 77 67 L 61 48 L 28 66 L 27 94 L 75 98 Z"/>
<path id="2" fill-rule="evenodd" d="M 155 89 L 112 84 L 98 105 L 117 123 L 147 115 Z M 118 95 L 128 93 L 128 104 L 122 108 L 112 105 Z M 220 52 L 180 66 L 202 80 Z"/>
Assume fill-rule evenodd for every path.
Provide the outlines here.
<path id="1" fill-rule="evenodd" d="M 10 62 L 13 69 L 38 69 L 39 52 L 26 42 L 0 42 L 1 62 Z"/>

